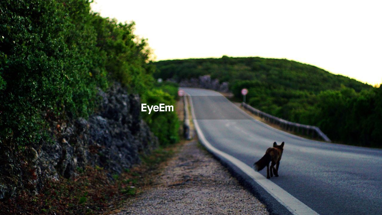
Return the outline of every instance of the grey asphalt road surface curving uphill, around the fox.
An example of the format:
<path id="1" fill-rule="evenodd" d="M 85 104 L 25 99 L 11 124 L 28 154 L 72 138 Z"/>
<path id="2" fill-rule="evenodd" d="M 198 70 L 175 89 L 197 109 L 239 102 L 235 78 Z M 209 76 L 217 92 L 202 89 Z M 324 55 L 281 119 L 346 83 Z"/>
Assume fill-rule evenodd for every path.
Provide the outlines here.
<path id="1" fill-rule="evenodd" d="M 297 137 L 254 120 L 220 93 L 183 89 L 211 145 L 247 165 L 284 141 L 280 176 L 270 180 L 317 213 L 382 214 L 382 150 Z"/>

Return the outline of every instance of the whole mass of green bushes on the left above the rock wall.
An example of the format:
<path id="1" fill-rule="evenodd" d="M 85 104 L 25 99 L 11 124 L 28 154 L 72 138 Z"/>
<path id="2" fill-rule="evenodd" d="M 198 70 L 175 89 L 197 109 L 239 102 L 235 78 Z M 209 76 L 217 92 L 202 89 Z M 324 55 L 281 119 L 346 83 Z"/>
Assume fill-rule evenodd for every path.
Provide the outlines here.
<path id="1" fill-rule="evenodd" d="M 98 89 L 113 81 L 144 101 L 155 94 L 175 104 L 173 95 L 153 85 L 149 48 L 134 35 L 134 23 L 92 13 L 90 2 L 2 0 L 0 143 L 23 148 L 42 140 L 49 120 L 87 117 L 97 108 Z M 144 118 L 162 144 L 177 140 L 175 112 Z"/>

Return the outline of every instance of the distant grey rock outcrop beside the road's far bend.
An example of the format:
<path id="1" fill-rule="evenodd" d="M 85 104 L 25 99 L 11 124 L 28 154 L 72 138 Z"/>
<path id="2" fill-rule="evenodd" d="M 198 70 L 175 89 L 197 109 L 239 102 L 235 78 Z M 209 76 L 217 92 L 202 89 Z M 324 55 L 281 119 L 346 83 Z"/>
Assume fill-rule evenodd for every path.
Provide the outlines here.
<path id="1" fill-rule="evenodd" d="M 229 91 L 228 82 L 219 83 L 219 80 L 211 80 L 210 75 L 199 76 L 199 78 L 191 78 L 189 80 L 182 80 L 179 83 L 180 86 L 205 88 L 210 90 L 216 90 L 223 93 Z"/>

